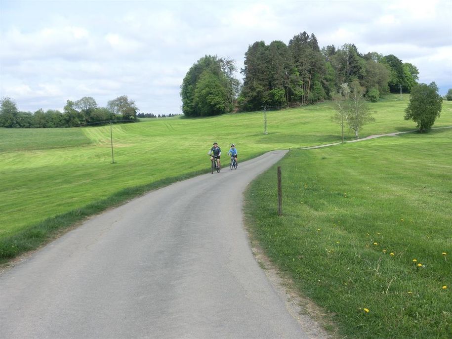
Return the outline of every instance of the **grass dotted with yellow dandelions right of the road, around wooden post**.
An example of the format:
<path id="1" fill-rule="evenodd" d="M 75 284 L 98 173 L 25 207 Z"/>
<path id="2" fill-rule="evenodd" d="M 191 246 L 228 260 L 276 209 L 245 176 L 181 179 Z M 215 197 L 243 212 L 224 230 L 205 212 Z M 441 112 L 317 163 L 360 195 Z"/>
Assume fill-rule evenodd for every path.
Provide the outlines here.
<path id="1" fill-rule="evenodd" d="M 249 187 L 271 259 L 347 338 L 452 338 L 452 130 L 313 150 Z M 443 289 L 443 286 L 447 288 Z"/>

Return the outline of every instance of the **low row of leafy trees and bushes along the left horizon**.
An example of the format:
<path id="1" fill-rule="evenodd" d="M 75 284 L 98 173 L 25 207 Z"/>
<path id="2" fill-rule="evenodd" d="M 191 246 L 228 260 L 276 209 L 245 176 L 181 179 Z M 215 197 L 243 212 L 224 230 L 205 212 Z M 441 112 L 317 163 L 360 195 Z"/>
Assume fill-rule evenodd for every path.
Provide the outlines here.
<path id="1" fill-rule="evenodd" d="M 76 127 L 93 124 L 107 124 L 111 121 L 136 121 L 138 108 L 127 95 L 121 95 L 107 102 L 107 107 L 99 107 L 94 98 L 82 97 L 68 100 L 63 112 L 47 110 L 20 112 L 16 103 L 9 97 L 0 102 L 0 127 L 13 128 L 57 128 Z"/>

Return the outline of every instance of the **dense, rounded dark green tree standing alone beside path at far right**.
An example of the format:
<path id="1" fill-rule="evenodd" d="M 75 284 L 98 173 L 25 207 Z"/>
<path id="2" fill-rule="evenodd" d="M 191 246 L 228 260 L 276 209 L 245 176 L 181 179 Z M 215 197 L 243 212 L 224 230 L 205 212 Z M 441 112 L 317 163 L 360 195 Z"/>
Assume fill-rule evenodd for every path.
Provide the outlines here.
<path id="1" fill-rule="evenodd" d="M 417 123 L 420 132 L 427 131 L 440 116 L 442 105 L 443 98 L 438 94 L 438 86 L 434 82 L 416 85 L 411 90 L 410 103 L 405 109 L 405 120 Z"/>

